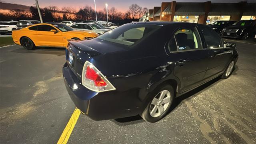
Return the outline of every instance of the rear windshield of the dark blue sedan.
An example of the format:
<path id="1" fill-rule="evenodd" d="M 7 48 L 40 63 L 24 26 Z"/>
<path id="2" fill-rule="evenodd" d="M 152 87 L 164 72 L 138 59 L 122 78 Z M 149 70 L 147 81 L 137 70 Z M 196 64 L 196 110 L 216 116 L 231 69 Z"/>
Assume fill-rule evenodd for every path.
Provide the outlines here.
<path id="1" fill-rule="evenodd" d="M 125 24 L 110 30 L 98 38 L 118 44 L 131 46 L 147 37 L 161 26 L 150 24 Z"/>

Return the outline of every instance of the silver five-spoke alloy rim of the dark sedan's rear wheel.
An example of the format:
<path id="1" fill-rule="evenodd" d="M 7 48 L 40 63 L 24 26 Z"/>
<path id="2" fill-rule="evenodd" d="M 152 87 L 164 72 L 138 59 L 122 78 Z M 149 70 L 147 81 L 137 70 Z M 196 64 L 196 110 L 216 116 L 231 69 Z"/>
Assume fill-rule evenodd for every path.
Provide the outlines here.
<path id="1" fill-rule="evenodd" d="M 162 90 L 161 92 L 156 94 L 150 104 L 150 116 L 155 118 L 162 115 L 170 105 L 170 100 L 171 93 L 168 90 Z"/>

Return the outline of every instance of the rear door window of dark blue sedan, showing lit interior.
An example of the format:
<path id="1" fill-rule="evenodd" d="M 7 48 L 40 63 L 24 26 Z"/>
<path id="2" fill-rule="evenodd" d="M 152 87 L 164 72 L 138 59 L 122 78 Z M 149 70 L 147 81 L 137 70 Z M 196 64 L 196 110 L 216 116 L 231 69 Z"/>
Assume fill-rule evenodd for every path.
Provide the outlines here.
<path id="1" fill-rule="evenodd" d="M 181 28 L 168 42 L 170 51 L 202 49 L 202 42 L 196 28 Z"/>

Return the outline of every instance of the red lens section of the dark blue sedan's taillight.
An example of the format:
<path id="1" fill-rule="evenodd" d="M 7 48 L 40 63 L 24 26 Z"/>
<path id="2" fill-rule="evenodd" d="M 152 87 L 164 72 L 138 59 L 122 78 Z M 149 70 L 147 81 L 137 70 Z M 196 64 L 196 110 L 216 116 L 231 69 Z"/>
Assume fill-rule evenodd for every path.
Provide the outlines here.
<path id="1" fill-rule="evenodd" d="M 84 78 L 93 80 L 95 86 L 106 86 L 107 85 L 107 83 L 92 68 L 90 68 L 90 66 L 87 66 L 86 74 L 85 74 Z"/>

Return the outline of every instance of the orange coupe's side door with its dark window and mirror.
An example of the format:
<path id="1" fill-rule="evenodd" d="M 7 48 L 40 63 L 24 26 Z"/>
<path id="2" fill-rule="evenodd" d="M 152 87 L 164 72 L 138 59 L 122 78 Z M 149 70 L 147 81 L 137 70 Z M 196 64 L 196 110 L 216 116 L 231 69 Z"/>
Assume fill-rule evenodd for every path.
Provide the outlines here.
<path id="1" fill-rule="evenodd" d="M 38 25 L 37 42 L 38 46 L 63 46 L 62 34 L 56 28 L 42 24 Z M 57 32 L 51 32 L 56 30 Z"/>

